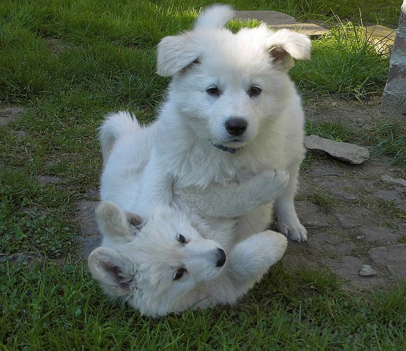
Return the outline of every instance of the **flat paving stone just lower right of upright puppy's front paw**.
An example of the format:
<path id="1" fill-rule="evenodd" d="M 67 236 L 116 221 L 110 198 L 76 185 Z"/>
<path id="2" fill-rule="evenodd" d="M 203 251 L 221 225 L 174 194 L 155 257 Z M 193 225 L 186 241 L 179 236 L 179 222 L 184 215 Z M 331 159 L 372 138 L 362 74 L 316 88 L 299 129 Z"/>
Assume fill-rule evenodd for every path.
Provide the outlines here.
<path id="1" fill-rule="evenodd" d="M 355 248 L 352 242 L 342 242 L 340 237 L 329 233 L 317 233 L 309 238 L 308 246 L 319 253 L 345 256 Z"/>

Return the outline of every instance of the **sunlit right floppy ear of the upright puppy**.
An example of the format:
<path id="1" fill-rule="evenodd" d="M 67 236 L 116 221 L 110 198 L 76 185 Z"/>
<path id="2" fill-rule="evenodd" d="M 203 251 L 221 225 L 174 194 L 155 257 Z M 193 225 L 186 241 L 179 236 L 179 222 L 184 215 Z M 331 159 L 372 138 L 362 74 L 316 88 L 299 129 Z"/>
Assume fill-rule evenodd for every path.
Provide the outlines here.
<path id="1" fill-rule="evenodd" d="M 287 72 L 294 66 L 294 59 L 310 59 L 312 42 L 305 34 L 279 29 L 267 38 L 266 48 L 276 67 Z"/>

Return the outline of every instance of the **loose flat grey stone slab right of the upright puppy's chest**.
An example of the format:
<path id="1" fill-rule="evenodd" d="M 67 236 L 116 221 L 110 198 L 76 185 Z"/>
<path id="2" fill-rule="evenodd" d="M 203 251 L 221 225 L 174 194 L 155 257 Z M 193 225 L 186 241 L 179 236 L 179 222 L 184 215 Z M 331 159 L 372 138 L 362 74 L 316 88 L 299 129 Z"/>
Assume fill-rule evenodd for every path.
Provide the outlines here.
<path id="1" fill-rule="evenodd" d="M 362 146 L 334 142 L 314 134 L 304 138 L 304 146 L 319 154 L 327 154 L 351 164 L 360 164 L 369 158 L 369 151 Z"/>

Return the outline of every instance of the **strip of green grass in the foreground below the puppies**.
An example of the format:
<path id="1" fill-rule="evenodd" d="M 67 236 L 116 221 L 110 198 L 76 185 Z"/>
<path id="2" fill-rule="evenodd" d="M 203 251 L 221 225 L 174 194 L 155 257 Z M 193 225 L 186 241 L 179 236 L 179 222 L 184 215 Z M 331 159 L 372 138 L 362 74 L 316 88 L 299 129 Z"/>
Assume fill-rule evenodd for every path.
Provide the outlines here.
<path id="1" fill-rule="evenodd" d="M 75 260 L 0 270 L 0 340 L 7 349 L 406 347 L 404 284 L 352 296 L 337 290 L 331 273 L 292 275 L 278 265 L 234 308 L 151 320 L 103 298 Z"/>

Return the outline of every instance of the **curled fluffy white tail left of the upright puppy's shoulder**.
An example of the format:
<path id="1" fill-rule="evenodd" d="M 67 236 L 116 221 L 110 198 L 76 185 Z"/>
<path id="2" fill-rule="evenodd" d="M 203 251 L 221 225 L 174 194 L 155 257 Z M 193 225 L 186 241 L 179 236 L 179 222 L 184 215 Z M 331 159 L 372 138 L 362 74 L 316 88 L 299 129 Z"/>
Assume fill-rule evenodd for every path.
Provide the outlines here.
<path id="1" fill-rule="evenodd" d="M 141 129 L 135 116 L 127 111 L 106 115 L 105 121 L 98 128 L 103 160 L 106 162 L 113 149 L 114 142 L 124 134 L 135 133 Z"/>

